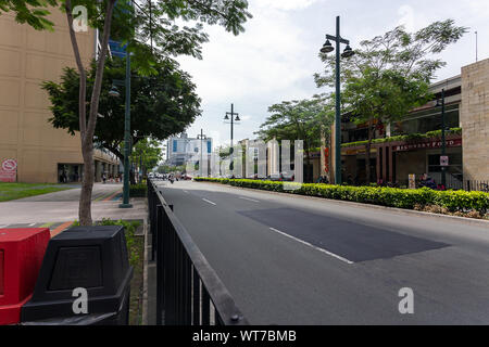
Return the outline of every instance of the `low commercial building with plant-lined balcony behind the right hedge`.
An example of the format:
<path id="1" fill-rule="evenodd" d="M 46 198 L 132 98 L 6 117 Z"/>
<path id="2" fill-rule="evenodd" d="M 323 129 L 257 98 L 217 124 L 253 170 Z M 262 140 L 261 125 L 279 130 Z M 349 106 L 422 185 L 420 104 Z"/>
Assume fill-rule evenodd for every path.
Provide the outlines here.
<path id="1" fill-rule="evenodd" d="M 441 91 L 444 90 L 447 163 L 441 154 Z M 446 170 L 447 185 L 462 189 L 467 181 L 489 181 L 489 60 L 462 68 L 462 74 L 430 86 L 434 100 L 394 124 L 375 123 L 371 149 L 371 182 L 408 185 L 410 175 L 427 174 L 437 183 Z M 366 178 L 367 125 L 343 115 L 342 180 L 363 184 Z M 334 163 L 331 163 L 334 165 Z M 334 172 L 334 170 L 333 170 Z"/>

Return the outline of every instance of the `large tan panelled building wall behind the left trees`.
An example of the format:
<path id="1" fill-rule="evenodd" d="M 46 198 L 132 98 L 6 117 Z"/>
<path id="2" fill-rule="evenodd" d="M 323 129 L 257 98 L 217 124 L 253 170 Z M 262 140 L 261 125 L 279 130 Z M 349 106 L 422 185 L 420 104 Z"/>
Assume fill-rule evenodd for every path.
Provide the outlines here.
<path id="1" fill-rule="evenodd" d="M 66 17 L 52 10 L 54 31 L 38 31 L 0 15 L 0 160 L 17 160 L 17 181 L 57 182 L 58 164 L 82 164 L 79 136 L 54 129 L 42 81 L 59 81 L 65 66 L 75 67 Z M 95 31 L 77 34 L 85 63 L 95 52 Z M 114 162 L 97 153 L 106 162 Z"/>

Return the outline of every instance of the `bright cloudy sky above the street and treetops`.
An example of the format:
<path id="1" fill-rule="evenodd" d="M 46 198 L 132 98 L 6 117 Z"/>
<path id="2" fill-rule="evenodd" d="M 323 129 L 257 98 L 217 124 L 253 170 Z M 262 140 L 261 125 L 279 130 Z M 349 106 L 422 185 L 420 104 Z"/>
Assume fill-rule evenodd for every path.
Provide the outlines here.
<path id="1" fill-rule="evenodd" d="M 323 69 L 318 51 L 326 34 L 335 34 L 336 16 L 341 17 L 341 36 L 354 50 L 403 24 L 410 31 L 435 21 L 452 18 L 469 31 L 439 54 L 447 66 L 437 79 L 459 75 L 461 67 L 489 57 L 489 0 L 249 0 L 253 18 L 246 31 L 234 36 L 220 26 L 208 26 L 210 42 L 203 44 L 201 61 L 177 60 L 197 85 L 202 99 L 202 116 L 187 130 L 212 137 L 214 146 L 229 143 L 230 125 L 224 124 L 234 103 L 241 121 L 235 126 L 235 143 L 253 139 L 268 106 L 287 100 L 311 98 L 325 88 L 315 86 L 313 74 Z"/>

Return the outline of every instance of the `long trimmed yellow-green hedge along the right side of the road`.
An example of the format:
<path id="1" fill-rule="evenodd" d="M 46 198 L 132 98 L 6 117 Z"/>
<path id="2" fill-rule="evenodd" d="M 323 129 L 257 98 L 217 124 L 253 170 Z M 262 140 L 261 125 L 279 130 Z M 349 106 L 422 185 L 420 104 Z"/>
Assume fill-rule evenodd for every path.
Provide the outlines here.
<path id="1" fill-rule="evenodd" d="M 195 178 L 193 180 L 408 209 L 413 209 L 415 205 L 437 205 L 446 207 L 451 213 L 475 210 L 485 215 L 489 210 L 489 193 L 484 192 L 435 191 L 429 188 L 352 187 L 322 183 L 303 183 L 299 185 L 293 182 L 221 178 Z M 294 185 L 297 189 L 287 190 L 287 187 L 284 189 L 285 184 L 297 184 Z M 289 188 L 293 188 L 293 185 L 289 185 Z"/>

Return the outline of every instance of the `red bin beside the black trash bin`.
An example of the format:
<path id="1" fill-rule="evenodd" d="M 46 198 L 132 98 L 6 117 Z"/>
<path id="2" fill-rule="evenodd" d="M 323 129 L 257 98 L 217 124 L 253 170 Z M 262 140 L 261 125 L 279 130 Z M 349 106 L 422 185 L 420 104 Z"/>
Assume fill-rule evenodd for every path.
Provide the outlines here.
<path id="1" fill-rule="evenodd" d="M 48 228 L 0 229 L 0 325 L 20 322 L 50 237 Z"/>

